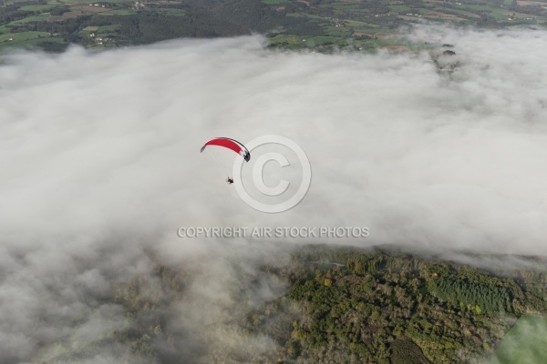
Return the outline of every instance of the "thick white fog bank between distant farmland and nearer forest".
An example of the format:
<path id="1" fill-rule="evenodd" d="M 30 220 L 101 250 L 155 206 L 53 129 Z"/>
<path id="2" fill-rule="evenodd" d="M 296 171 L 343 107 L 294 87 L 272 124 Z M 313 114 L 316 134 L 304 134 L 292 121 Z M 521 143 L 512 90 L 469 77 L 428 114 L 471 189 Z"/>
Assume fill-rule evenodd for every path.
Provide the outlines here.
<path id="1" fill-rule="evenodd" d="M 99 298 L 150 269 L 146 249 L 199 265 L 286 240 L 182 239 L 179 227 L 368 227 L 368 238 L 289 240 L 546 255 L 545 35 L 408 35 L 455 45 L 450 75 L 427 52 L 273 53 L 260 36 L 3 56 L 0 358 L 64 337 L 60 318 L 116 317 Z M 313 171 L 304 200 L 274 215 L 199 153 L 213 136 L 270 134 L 293 139 Z M 273 183 L 299 176 L 268 168 Z M 222 272 L 196 297 L 221 295 L 203 287 Z"/>

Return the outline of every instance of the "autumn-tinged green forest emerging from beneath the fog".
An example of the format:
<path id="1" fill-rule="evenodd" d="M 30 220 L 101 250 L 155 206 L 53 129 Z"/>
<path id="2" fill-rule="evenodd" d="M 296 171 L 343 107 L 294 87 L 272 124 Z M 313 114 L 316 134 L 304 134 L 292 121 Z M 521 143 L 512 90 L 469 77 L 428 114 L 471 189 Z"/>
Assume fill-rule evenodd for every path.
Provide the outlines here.
<path id="1" fill-rule="evenodd" d="M 166 354 L 188 334 L 169 322 L 194 275 L 158 262 L 153 276 L 112 285 L 108 302 L 123 308 L 127 329 L 86 345 L 75 345 L 75 338 L 50 343 L 55 349 L 36 362 L 91 359 L 108 347 L 127 362 L 149 363 L 499 364 L 515 362 L 508 361 L 515 355 L 511 342 L 523 333 L 536 349 L 521 352 L 518 362 L 532 362 L 526 361 L 531 355 L 544 362 L 547 353 L 537 348 L 547 336 L 537 333 L 547 332 L 547 269 L 545 261 L 521 259 L 526 268 L 487 270 L 397 250 L 295 248 L 284 264 L 253 272 L 252 282 L 277 282 L 280 293 L 249 304 L 246 288 L 234 288 L 239 313 L 193 332 L 201 358 L 185 361 Z M 222 345 L 218 335 L 235 337 L 238 345 Z M 271 348 L 242 349 L 252 338 L 269 338 Z"/>

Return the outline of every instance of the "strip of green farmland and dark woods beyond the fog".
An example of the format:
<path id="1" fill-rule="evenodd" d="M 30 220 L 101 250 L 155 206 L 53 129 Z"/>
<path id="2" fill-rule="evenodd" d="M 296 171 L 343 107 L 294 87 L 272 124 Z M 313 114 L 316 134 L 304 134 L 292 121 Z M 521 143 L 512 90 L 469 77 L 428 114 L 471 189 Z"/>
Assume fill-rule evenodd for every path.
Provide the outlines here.
<path id="1" fill-rule="evenodd" d="M 407 49 L 394 36 L 401 25 L 547 26 L 547 0 L 4 0 L 0 9 L 0 52 L 257 32 L 271 48 L 367 52 Z"/>

